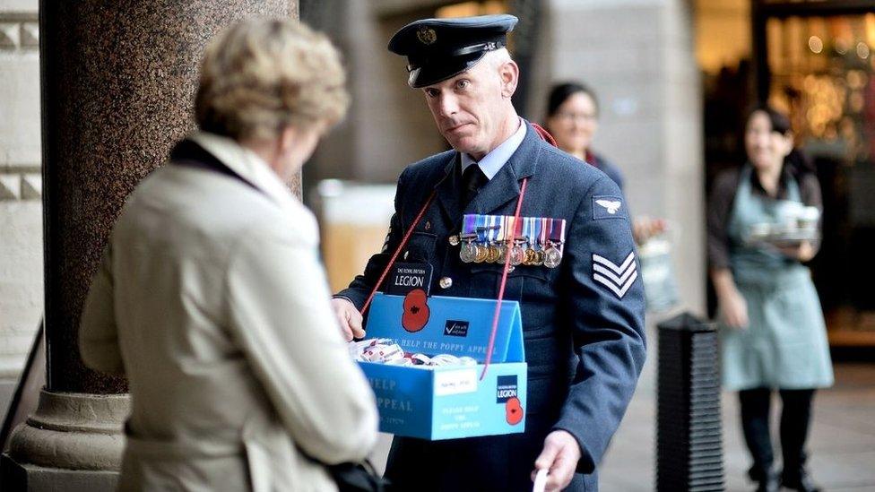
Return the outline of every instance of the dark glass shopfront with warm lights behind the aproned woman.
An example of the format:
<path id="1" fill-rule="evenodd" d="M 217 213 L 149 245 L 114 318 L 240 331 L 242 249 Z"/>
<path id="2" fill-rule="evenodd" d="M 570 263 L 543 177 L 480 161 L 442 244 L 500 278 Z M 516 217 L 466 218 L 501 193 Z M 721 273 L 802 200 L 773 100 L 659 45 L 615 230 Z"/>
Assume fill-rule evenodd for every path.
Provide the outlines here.
<path id="1" fill-rule="evenodd" d="M 754 16 L 759 97 L 791 115 L 823 192 L 811 267 L 830 344 L 875 346 L 875 2 L 759 2 Z"/>

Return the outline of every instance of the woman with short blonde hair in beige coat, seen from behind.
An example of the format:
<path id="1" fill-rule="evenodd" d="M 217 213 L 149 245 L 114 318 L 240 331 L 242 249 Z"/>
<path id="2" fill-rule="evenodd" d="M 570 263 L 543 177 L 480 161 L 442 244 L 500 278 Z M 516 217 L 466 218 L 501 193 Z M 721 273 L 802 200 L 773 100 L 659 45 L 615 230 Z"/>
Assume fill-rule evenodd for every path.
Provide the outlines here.
<path id="1" fill-rule="evenodd" d="M 82 314 L 82 359 L 125 374 L 122 489 L 332 490 L 377 437 L 287 182 L 348 106 L 339 56 L 288 20 L 207 49 L 200 132 L 137 187 Z"/>

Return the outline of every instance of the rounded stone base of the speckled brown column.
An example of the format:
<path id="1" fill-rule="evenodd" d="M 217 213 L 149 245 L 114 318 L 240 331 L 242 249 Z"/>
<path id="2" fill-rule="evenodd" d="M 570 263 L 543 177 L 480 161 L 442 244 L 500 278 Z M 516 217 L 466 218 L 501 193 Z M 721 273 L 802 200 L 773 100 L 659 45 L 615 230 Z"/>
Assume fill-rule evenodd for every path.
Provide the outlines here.
<path id="1" fill-rule="evenodd" d="M 3 490 L 114 490 L 130 410 L 126 394 L 39 393 L 0 461 Z"/>

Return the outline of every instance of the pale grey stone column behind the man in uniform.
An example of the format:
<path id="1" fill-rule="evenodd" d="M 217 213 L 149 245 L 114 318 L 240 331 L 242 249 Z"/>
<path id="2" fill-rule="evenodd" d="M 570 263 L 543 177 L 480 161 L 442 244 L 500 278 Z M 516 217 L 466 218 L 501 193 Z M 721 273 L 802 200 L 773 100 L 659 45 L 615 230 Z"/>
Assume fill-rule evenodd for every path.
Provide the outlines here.
<path id="1" fill-rule="evenodd" d="M 705 312 L 701 80 L 684 0 L 550 0 L 540 105 L 550 82 L 583 80 L 601 99 L 593 147 L 626 177 L 633 215 L 671 220 L 682 306 Z"/>

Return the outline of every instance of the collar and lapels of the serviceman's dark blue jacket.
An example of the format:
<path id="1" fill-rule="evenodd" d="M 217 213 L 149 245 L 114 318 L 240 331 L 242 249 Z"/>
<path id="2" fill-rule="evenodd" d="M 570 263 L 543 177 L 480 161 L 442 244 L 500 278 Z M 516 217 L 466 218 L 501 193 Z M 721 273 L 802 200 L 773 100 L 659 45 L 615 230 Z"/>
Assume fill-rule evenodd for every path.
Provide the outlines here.
<path id="1" fill-rule="evenodd" d="M 463 213 L 488 214 L 498 210 L 520 194 L 520 181 L 531 177 L 538 168 L 541 153 L 541 137 L 534 131 L 532 125 L 523 120 L 526 126 L 523 142 L 504 166 L 498 170 L 489 183 L 483 185 L 480 192 L 468 207 L 462 210 L 459 203 L 459 190 L 462 177 L 459 168 L 459 153 L 450 154 L 444 168 L 444 177 L 437 182 L 437 202 L 450 219 L 456 223 L 462 219 Z"/>

